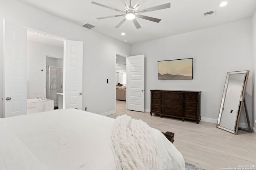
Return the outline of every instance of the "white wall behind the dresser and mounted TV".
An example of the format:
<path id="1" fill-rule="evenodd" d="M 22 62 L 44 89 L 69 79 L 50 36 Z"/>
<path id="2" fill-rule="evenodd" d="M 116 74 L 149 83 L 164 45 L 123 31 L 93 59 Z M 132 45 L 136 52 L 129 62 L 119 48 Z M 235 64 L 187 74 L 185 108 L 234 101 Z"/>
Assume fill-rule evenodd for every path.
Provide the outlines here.
<path id="1" fill-rule="evenodd" d="M 201 90 L 202 121 L 216 123 L 227 72 L 252 70 L 252 18 L 131 45 L 131 55 L 141 54 L 147 111 L 151 89 Z M 158 61 L 184 58 L 193 58 L 193 80 L 158 80 Z M 246 90 L 250 117 L 251 81 L 250 74 Z"/>

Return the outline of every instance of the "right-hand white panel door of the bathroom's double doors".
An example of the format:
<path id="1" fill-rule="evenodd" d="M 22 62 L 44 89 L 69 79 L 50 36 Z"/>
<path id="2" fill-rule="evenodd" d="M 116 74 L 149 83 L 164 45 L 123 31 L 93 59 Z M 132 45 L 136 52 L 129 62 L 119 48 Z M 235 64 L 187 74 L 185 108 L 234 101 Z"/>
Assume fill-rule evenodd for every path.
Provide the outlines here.
<path id="1" fill-rule="evenodd" d="M 82 109 L 83 42 L 66 40 L 64 60 L 64 109 Z"/>

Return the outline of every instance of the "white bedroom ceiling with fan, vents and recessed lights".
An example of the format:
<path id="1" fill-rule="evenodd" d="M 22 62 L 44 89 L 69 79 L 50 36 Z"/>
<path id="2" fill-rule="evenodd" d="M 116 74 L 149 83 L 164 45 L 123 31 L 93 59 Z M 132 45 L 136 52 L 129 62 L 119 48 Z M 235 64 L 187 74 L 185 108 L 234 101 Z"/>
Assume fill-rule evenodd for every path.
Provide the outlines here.
<path id="1" fill-rule="evenodd" d="M 140 9 L 171 3 L 171 8 L 146 12 L 145 16 L 162 19 L 159 23 L 137 18 L 142 26 L 136 29 L 132 21 L 126 20 L 119 28 L 114 28 L 123 16 L 98 20 L 104 16 L 119 15 L 120 12 L 91 4 L 91 0 L 20 0 L 36 8 L 64 18 L 78 25 L 90 23 L 96 32 L 108 35 L 128 44 L 177 35 L 198 29 L 220 25 L 251 17 L 256 10 L 256 0 L 145 0 Z M 124 9 L 121 0 L 94 0 L 100 4 Z M 132 0 L 132 5 L 138 0 Z M 218 4 L 227 1 L 228 5 Z M 128 1 L 127 1 L 128 2 Z M 204 13 L 214 10 L 216 15 L 205 18 Z M 86 28 L 84 28 L 86 29 Z M 126 35 L 122 36 L 124 32 Z"/>

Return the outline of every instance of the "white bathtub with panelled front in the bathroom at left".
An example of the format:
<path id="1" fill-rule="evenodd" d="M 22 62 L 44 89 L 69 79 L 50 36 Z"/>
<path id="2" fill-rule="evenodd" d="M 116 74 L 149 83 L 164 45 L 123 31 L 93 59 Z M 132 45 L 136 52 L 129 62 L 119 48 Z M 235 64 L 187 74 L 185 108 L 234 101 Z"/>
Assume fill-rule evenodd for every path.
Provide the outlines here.
<path id="1" fill-rule="evenodd" d="M 50 111 L 54 109 L 54 101 L 50 99 L 27 99 L 27 114 Z"/>

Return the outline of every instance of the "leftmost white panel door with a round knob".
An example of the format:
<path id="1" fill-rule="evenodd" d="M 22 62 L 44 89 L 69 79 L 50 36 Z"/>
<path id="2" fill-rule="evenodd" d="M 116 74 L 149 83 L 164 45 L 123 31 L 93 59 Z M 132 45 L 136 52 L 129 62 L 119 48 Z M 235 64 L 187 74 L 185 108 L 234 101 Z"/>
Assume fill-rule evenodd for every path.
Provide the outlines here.
<path id="1" fill-rule="evenodd" d="M 4 117 L 27 114 L 27 30 L 4 20 Z"/>

